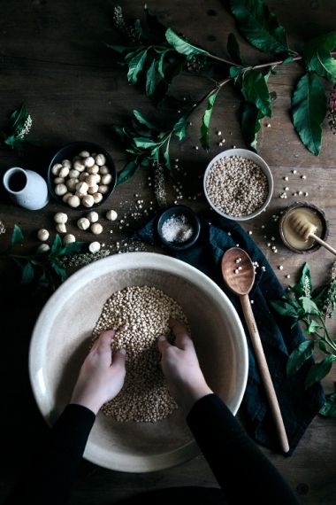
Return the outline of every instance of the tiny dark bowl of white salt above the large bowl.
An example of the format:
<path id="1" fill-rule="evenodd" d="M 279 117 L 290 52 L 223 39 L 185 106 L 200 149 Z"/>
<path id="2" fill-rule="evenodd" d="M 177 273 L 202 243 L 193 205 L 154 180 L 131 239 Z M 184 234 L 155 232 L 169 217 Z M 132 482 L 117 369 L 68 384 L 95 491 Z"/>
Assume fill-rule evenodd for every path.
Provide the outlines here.
<path id="1" fill-rule="evenodd" d="M 183 251 L 195 244 L 200 235 L 201 222 L 187 206 L 170 206 L 157 221 L 161 242 L 172 251 Z"/>

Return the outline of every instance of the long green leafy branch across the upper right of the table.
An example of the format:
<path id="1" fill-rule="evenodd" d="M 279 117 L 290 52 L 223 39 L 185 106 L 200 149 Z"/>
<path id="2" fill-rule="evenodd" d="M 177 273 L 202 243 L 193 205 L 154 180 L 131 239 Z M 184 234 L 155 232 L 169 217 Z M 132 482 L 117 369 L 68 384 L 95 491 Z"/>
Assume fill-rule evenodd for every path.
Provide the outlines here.
<path id="1" fill-rule="evenodd" d="M 116 9 L 120 14 L 121 8 Z M 231 82 L 241 93 L 241 132 L 248 146 L 256 151 L 257 134 L 262 127 L 262 120 L 272 114 L 269 78 L 277 67 L 300 61 L 304 74 L 294 89 L 292 120 L 302 143 L 318 155 L 322 145 L 321 125 L 327 114 L 325 87 L 321 78 L 336 82 L 336 60 L 335 53 L 332 52 L 336 48 L 336 32 L 309 41 L 300 55 L 289 48 L 285 28 L 263 4 L 263 0 L 231 0 L 231 10 L 241 35 L 257 50 L 273 53 L 276 57 L 274 61 L 252 66 L 245 64 L 239 43 L 233 34 L 229 35 L 227 41 L 228 58 L 218 57 L 189 43 L 184 35 L 177 34 L 172 28 L 164 27 L 149 13 L 147 6 L 144 9 L 144 21 L 136 19 L 131 30 L 133 34 L 136 33 L 136 37 L 132 36 L 129 44 L 109 44 L 109 47 L 118 51 L 121 64 L 128 67 L 128 82 L 141 83 L 146 95 L 156 105 L 166 96 L 173 79 L 183 71 L 205 76 L 215 83 L 204 95 L 207 103 L 202 114 L 200 140 L 206 151 L 210 149 L 211 114 L 218 92 L 225 84 Z M 123 28 L 121 31 L 127 32 L 125 21 L 119 23 L 119 26 L 117 24 L 117 27 L 120 26 Z M 134 40 L 138 43 L 134 44 Z M 218 74 L 221 76 L 218 77 Z M 204 97 L 196 102 L 192 112 L 202 105 Z M 158 142 L 157 130 L 160 130 L 157 126 L 152 128 L 153 137 L 148 132 L 147 138 L 152 138 L 153 144 Z M 160 133 L 163 138 L 168 138 L 167 132 Z M 128 136 L 132 135 L 128 131 Z M 134 135 L 137 136 L 138 133 L 135 131 Z M 184 137 L 181 136 L 179 140 Z M 164 156 L 166 166 L 168 158 L 169 143 Z M 143 164 L 142 161 L 143 156 L 139 156 L 127 163 L 118 182 L 126 182 L 133 175 L 134 163 L 138 167 L 147 165 L 147 162 Z"/>

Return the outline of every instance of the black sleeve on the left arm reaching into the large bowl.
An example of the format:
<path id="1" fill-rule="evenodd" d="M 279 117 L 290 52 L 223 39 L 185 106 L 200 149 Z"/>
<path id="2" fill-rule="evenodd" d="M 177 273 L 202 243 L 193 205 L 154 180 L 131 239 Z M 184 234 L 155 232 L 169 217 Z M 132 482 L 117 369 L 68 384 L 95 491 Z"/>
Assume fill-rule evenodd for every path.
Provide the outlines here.
<path id="1" fill-rule="evenodd" d="M 65 505 L 94 422 L 88 408 L 68 405 L 4 505 Z"/>

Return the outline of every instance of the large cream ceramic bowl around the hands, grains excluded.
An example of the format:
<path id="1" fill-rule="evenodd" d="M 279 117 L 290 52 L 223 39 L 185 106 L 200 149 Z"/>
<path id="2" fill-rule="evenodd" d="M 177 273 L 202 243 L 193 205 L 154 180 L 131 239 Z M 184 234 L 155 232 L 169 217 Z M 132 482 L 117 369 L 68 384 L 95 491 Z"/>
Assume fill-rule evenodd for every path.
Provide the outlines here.
<path id="1" fill-rule="evenodd" d="M 217 284 L 187 263 L 157 253 L 97 260 L 73 274 L 39 316 L 29 350 L 29 374 L 42 415 L 53 423 L 70 398 L 103 303 L 130 285 L 151 285 L 176 299 L 190 322 L 203 373 L 235 414 L 248 376 L 244 330 Z M 200 454 L 178 408 L 158 423 L 119 423 L 99 413 L 84 457 L 111 470 L 145 472 Z"/>

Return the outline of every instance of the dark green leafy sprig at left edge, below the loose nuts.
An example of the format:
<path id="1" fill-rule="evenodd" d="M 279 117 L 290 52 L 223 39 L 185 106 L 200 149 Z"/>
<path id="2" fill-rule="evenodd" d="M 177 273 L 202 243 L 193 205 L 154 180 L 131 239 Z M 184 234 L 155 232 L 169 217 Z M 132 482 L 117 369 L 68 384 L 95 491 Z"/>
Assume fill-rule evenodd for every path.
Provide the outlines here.
<path id="1" fill-rule="evenodd" d="M 36 292 L 43 294 L 55 291 L 67 278 L 62 259 L 73 253 L 82 251 L 84 242 L 73 242 L 62 245 L 59 235 L 56 235 L 50 250 L 41 251 L 37 247 L 34 253 L 17 253 L 17 246 L 22 245 L 24 237 L 20 227 L 15 224 L 11 234 L 11 245 L 7 251 L 0 254 L 0 260 L 13 260 L 20 268 L 21 284 L 34 284 Z"/>

